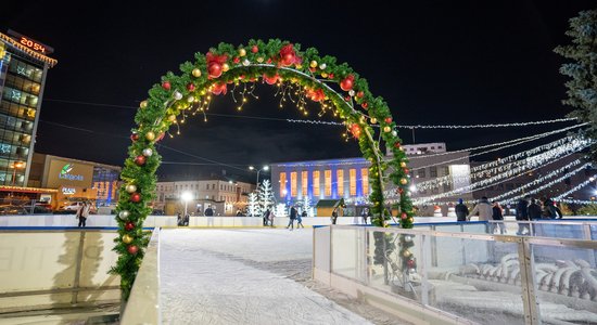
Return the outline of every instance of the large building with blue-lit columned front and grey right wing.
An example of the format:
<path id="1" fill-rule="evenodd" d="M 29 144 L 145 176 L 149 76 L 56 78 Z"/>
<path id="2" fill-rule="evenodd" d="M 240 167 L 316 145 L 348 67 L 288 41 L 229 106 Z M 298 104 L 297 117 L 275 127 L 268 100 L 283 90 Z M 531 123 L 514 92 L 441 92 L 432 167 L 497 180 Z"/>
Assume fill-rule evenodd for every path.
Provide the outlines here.
<path id="1" fill-rule="evenodd" d="M 445 143 L 404 145 L 403 148 L 410 160 L 409 174 L 414 185 L 410 196 L 414 199 L 449 193 L 455 185 L 458 187 L 470 183 L 469 153 L 446 152 Z M 364 158 L 272 164 L 271 184 L 276 199 L 287 205 L 301 204 L 305 197 L 313 206 L 320 199 L 344 198 L 347 204 L 358 207 L 368 203 L 369 166 L 370 162 Z M 449 181 L 431 182 L 440 177 Z M 417 184 L 422 184 L 420 190 L 417 190 Z M 394 184 L 385 184 L 389 193 L 395 187 Z M 472 197 L 470 194 L 463 196 L 466 199 Z M 448 198 L 455 197 L 458 194 Z M 391 195 L 389 198 L 392 198 Z M 358 210 L 353 209 L 353 213 L 358 213 Z"/>

